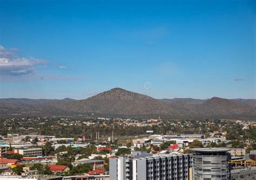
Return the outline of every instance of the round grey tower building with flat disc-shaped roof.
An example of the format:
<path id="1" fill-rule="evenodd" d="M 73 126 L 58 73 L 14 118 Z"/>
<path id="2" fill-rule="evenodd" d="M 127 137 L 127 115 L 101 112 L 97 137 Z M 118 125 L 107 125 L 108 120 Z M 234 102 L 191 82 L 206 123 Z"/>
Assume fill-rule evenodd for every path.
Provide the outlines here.
<path id="1" fill-rule="evenodd" d="M 230 179 L 228 148 L 193 148 L 193 179 Z"/>

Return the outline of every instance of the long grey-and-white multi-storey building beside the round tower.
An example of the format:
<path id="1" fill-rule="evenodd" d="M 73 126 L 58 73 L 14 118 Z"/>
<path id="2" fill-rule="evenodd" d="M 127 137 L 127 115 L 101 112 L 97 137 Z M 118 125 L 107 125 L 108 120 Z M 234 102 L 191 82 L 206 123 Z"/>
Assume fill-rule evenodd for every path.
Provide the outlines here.
<path id="1" fill-rule="evenodd" d="M 190 179 L 192 156 L 142 153 L 110 159 L 110 180 Z"/>

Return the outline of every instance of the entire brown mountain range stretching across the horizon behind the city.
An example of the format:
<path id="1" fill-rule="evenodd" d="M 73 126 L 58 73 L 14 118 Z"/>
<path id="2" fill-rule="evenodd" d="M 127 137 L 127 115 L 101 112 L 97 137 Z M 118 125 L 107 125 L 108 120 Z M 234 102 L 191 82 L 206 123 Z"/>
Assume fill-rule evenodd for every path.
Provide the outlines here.
<path id="1" fill-rule="evenodd" d="M 256 99 L 154 99 L 114 88 L 87 99 L 0 99 L 0 117 L 107 116 L 256 120 Z M 93 115 L 94 114 L 94 115 Z"/>

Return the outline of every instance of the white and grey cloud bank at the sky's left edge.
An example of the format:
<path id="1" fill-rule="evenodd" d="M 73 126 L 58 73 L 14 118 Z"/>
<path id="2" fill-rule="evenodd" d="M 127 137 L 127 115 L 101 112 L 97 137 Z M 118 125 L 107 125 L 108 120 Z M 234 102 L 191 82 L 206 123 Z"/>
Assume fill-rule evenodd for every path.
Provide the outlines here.
<path id="1" fill-rule="evenodd" d="M 0 45 L 0 80 L 1 81 L 61 81 L 84 80 L 85 76 L 49 75 L 38 73 L 38 69 L 45 67 L 49 61 L 34 57 L 21 57 L 17 55 L 19 49 L 6 49 Z M 66 69 L 66 66 L 59 66 Z"/>

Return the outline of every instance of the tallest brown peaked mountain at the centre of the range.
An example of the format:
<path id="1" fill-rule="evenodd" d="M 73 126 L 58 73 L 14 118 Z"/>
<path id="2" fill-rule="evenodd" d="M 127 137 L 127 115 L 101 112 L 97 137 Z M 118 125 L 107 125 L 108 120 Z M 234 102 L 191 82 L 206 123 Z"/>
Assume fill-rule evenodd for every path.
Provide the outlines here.
<path id="1" fill-rule="evenodd" d="M 59 106 L 60 109 L 100 114 L 174 114 L 168 104 L 136 92 L 114 88 L 96 96 Z"/>

